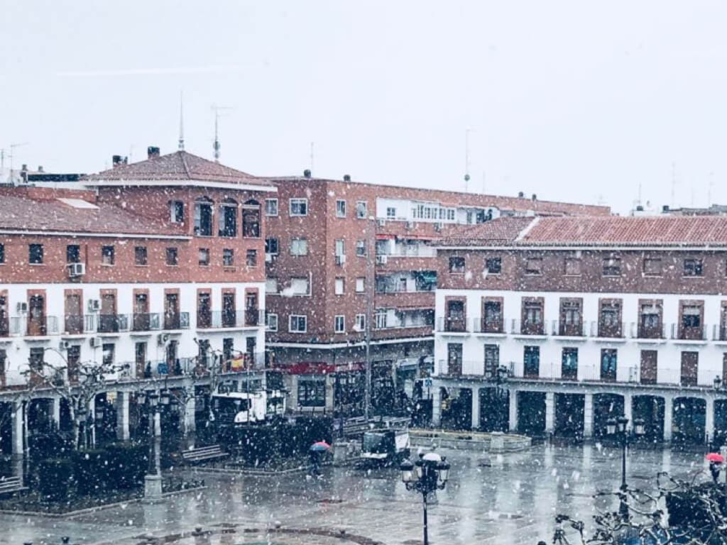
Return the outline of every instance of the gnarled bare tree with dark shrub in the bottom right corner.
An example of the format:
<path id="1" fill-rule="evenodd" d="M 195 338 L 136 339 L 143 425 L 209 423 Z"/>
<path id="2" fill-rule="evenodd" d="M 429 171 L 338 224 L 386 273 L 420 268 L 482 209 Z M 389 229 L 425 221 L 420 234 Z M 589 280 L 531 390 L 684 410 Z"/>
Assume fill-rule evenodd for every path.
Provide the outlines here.
<path id="1" fill-rule="evenodd" d="M 594 496 L 624 501 L 628 517 L 617 511 L 598 510 L 593 535 L 585 535 L 585 523 L 566 514 L 555 517 L 553 543 L 558 545 L 727 545 L 726 492 L 713 483 L 697 483 L 704 472 L 691 480 L 680 480 L 660 472 L 656 491 L 638 488 L 602 492 Z M 570 532 L 563 528 L 566 525 Z"/>

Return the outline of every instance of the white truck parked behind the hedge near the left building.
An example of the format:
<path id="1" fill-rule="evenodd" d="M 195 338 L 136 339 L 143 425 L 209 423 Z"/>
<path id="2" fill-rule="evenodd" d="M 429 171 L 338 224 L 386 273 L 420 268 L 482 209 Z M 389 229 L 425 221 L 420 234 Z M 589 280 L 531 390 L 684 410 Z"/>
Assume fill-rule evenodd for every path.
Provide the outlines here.
<path id="1" fill-rule="evenodd" d="M 260 424 L 285 416 L 285 392 L 279 389 L 228 392 L 212 395 L 212 419 L 218 426 Z"/>

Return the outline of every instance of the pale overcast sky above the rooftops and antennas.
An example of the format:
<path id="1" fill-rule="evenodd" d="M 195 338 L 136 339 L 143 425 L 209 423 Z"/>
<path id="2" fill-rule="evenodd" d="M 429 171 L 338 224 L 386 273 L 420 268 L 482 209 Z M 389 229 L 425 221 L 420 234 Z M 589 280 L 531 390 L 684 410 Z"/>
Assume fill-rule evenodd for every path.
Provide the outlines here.
<path id="1" fill-rule="evenodd" d="M 594 203 L 727 203 L 723 1 L 0 1 L 0 148 L 99 171 L 186 149 Z M 7 167 L 7 163 L 6 163 Z M 711 174 L 710 174 L 711 173 Z"/>

